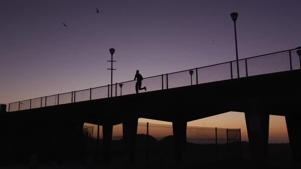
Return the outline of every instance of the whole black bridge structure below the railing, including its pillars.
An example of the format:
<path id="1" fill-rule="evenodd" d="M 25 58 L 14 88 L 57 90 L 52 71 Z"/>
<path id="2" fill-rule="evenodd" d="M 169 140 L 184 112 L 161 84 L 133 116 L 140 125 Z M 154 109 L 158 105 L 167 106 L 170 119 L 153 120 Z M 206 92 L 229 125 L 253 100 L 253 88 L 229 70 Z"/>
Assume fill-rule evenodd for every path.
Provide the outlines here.
<path id="1" fill-rule="evenodd" d="M 245 113 L 255 161 L 267 161 L 269 115 L 285 116 L 293 158 L 300 160 L 297 138 L 301 129 L 300 75 L 300 70 L 294 70 L 2 113 L 1 146 L 5 150 L 2 152 L 37 154 L 39 147 L 45 146 L 40 143 L 51 144 L 52 154 L 68 152 L 81 142 L 80 139 L 74 142 L 74 137 L 79 136 L 86 122 L 103 126 L 106 161 L 109 162 L 112 128 L 122 123 L 126 154 L 134 163 L 138 119 L 147 118 L 172 122 L 175 154 L 177 161 L 181 161 L 187 122 L 239 111 Z M 48 142 L 43 142 L 45 139 Z"/>

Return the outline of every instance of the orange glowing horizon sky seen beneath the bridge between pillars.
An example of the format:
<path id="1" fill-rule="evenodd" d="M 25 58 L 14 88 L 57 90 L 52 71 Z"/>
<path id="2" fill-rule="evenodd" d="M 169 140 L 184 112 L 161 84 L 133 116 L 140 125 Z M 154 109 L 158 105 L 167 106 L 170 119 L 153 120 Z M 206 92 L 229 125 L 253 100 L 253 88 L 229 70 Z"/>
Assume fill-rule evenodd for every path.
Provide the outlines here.
<path id="1" fill-rule="evenodd" d="M 165 121 L 158 121 L 158 120 L 151 120 L 151 119 L 143 119 L 140 118 L 138 122 L 141 123 L 149 123 L 149 135 L 156 136 L 156 139 L 161 139 L 163 137 L 166 137 L 168 135 L 172 135 L 172 123 L 171 122 L 165 122 Z M 144 126 L 145 125 L 145 126 Z M 152 127 L 153 125 L 153 127 Z M 97 138 L 97 125 L 87 124 L 85 123 L 85 126 L 90 127 L 90 132 L 93 133 L 93 137 Z M 154 127 L 157 126 L 157 127 Z M 187 126 L 195 126 L 195 127 L 208 127 L 208 128 L 228 128 L 228 129 L 241 129 L 241 140 L 248 142 L 248 135 L 246 130 L 246 123 L 245 123 L 245 117 L 243 112 L 227 112 L 224 114 L 211 116 L 204 119 L 199 119 L 195 121 L 191 121 L 187 123 Z M 102 138 L 103 131 L 102 126 L 99 126 L 99 138 Z M 220 130 L 221 131 L 221 130 Z M 188 131 L 187 131 L 188 132 Z M 189 131 L 189 136 L 193 137 L 193 134 L 195 137 L 201 137 L 204 139 L 209 137 L 214 137 L 214 132 L 200 130 L 197 131 L 197 133 L 191 133 Z M 219 132 L 220 134 L 223 134 L 223 132 Z M 137 129 L 137 134 L 146 134 L 146 124 L 143 124 L 139 126 Z M 187 133 L 188 134 L 188 133 Z M 192 135 L 191 135 L 192 134 Z M 113 139 L 120 139 L 122 137 L 122 125 L 115 125 L 113 127 Z M 220 137 L 220 136 L 218 136 Z M 224 137 L 223 135 L 221 137 Z M 284 116 L 272 116 L 270 115 L 270 121 L 269 121 L 269 140 L 268 143 L 289 143 L 288 139 L 288 133 L 287 133 L 287 127 L 285 122 Z"/>

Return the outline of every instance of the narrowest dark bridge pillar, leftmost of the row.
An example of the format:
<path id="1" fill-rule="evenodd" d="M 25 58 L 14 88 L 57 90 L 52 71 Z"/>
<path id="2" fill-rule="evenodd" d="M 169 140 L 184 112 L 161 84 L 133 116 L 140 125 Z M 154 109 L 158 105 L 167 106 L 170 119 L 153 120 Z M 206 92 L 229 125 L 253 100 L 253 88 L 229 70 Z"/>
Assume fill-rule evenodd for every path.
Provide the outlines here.
<path id="1" fill-rule="evenodd" d="M 111 162 L 112 133 L 113 133 L 113 125 L 112 124 L 103 125 L 104 163 Z"/>

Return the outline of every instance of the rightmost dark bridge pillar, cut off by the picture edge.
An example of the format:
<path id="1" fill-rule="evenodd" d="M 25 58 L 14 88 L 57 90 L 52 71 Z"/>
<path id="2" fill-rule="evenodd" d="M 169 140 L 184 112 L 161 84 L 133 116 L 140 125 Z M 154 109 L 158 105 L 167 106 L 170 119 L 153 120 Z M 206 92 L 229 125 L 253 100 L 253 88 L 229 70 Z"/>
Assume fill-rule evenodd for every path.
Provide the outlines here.
<path id="1" fill-rule="evenodd" d="M 289 144 L 291 147 L 292 158 L 301 161 L 301 145 L 298 136 L 301 131 L 301 115 L 299 112 L 289 112 L 285 115 L 285 121 L 288 131 Z"/>

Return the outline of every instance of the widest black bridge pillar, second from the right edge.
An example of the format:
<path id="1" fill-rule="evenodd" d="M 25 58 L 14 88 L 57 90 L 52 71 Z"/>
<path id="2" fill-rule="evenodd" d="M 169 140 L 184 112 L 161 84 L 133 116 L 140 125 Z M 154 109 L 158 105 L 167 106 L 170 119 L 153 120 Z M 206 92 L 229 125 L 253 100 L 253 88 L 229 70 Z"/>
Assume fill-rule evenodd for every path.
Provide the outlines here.
<path id="1" fill-rule="evenodd" d="M 267 164 L 269 114 L 255 104 L 244 115 L 251 158 L 255 164 Z"/>

